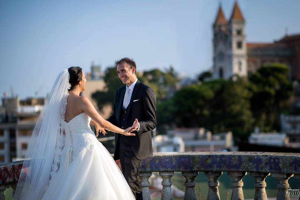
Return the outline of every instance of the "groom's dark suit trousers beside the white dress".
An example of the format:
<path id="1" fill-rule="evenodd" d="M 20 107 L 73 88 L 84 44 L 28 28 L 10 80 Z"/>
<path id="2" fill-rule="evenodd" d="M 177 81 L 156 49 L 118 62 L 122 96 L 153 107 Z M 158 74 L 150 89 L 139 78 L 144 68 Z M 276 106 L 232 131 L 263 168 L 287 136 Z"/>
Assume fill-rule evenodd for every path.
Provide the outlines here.
<path id="1" fill-rule="evenodd" d="M 134 197 L 137 200 L 143 200 L 140 176 L 138 175 L 141 160 L 135 157 L 130 145 L 130 138 L 121 137 L 119 140 L 119 155 L 123 175 Z"/>

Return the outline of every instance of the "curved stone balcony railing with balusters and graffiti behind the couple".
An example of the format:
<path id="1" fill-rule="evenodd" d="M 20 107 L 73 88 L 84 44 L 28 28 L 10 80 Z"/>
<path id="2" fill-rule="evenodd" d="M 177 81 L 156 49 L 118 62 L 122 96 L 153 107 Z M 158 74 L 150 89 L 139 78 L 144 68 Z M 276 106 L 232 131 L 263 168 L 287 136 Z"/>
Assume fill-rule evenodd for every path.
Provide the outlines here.
<path id="1" fill-rule="evenodd" d="M 22 161 L 0 165 L 0 200 L 4 200 L 6 188 L 16 189 L 22 168 Z M 278 181 L 277 199 L 290 199 L 286 196 L 290 177 L 300 181 L 299 153 L 267 153 L 267 152 L 183 152 L 155 153 L 153 157 L 143 159 L 140 166 L 140 178 L 143 199 L 150 200 L 149 177 L 152 172 L 159 172 L 163 178 L 162 200 L 172 199 L 171 178 L 174 172 L 182 172 L 185 178 L 185 200 L 196 199 L 195 177 L 204 172 L 208 177 L 207 199 L 220 199 L 218 178 L 227 172 L 232 178 L 232 200 L 244 199 L 242 178 L 250 173 L 255 179 L 254 199 L 267 200 L 265 178 L 270 174 Z M 13 195 L 13 194 L 12 194 Z"/>

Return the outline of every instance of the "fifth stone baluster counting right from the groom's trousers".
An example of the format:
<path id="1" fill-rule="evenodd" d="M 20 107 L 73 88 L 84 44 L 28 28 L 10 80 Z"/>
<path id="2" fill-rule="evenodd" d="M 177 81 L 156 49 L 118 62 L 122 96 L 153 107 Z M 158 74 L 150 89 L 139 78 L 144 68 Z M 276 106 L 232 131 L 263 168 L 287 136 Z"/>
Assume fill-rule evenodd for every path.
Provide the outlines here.
<path id="1" fill-rule="evenodd" d="M 228 175 L 232 178 L 232 194 L 231 200 L 244 200 L 244 194 L 242 186 L 244 185 L 242 178 L 247 172 L 228 172 Z"/>

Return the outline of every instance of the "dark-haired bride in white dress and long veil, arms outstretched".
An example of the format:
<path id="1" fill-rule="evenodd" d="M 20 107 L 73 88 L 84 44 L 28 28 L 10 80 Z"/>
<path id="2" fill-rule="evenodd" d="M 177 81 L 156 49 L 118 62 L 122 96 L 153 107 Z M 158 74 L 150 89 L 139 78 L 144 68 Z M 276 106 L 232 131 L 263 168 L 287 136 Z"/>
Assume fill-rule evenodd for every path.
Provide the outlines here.
<path id="1" fill-rule="evenodd" d="M 63 70 L 40 113 L 27 148 L 14 199 L 135 199 L 123 174 L 90 124 L 134 136 L 104 120 L 86 97 L 82 68 Z"/>

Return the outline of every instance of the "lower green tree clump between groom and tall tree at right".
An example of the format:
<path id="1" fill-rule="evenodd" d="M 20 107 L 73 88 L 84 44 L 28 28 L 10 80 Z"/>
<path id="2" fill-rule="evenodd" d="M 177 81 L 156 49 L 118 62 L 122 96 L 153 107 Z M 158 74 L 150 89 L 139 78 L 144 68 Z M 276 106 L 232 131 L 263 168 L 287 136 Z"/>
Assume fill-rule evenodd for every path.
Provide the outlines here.
<path id="1" fill-rule="evenodd" d="M 244 139 L 252 130 L 250 98 L 247 78 L 190 85 L 159 104 L 158 124 L 175 122 L 178 127 L 205 127 L 213 133 L 232 131 Z"/>

